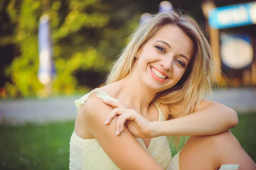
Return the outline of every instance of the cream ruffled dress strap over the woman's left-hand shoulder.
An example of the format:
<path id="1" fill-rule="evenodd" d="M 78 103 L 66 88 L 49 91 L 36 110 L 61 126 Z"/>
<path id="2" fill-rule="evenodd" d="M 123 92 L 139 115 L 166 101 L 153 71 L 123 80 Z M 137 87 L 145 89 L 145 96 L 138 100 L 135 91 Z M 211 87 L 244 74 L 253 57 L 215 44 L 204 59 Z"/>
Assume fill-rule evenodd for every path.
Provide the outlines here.
<path id="1" fill-rule="evenodd" d="M 93 89 L 91 92 L 87 93 L 83 97 L 79 98 L 78 100 L 74 101 L 76 104 L 76 111 L 78 112 L 79 108 L 85 103 L 85 101 L 88 100 L 90 94 L 92 92 L 96 92 L 98 98 L 102 98 L 103 100 L 112 100 L 112 101 L 118 101 L 116 98 L 110 97 L 106 92 L 101 91 L 99 88 Z"/>

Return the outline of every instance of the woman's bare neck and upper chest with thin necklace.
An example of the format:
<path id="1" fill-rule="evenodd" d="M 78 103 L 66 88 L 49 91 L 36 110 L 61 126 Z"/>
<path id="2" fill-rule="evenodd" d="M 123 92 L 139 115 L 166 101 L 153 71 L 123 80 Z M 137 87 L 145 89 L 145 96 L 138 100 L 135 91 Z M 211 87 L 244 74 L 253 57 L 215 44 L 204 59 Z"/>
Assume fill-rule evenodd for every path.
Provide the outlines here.
<path id="1" fill-rule="evenodd" d="M 136 108 L 140 114 L 146 115 L 156 92 L 141 83 L 137 74 L 127 75 L 120 81 L 120 84 L 122 87 L 119 98 L 122 98 L 121 102 L 125 107 Z"/>

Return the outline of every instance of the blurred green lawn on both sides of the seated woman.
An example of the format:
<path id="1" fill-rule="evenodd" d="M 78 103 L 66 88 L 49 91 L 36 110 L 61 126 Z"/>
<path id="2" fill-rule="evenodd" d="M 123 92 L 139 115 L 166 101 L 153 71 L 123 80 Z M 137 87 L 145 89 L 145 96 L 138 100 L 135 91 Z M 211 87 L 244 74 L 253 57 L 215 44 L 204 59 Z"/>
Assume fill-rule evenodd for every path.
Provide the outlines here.
<path id="1" fill-rule="evenodd" d="M 0 170 L 68 170 L 74 122 L 0 127 Z M 256 161 L 256 113 L 239 115 L 231 132 Z"/>

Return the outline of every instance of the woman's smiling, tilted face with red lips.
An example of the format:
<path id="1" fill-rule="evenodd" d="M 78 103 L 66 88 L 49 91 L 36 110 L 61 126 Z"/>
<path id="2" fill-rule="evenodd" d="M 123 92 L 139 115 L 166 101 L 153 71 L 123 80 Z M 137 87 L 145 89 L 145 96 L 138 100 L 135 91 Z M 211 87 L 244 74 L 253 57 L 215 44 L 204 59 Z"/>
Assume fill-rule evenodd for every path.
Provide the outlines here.
<path id="1" fill-rule="evenodd" d="M 145 86 L 160 92 L 177 84 L 193 53 L 193 42 L 182 29 L 165 25 L 142 46 L 135 70 Z"/>

